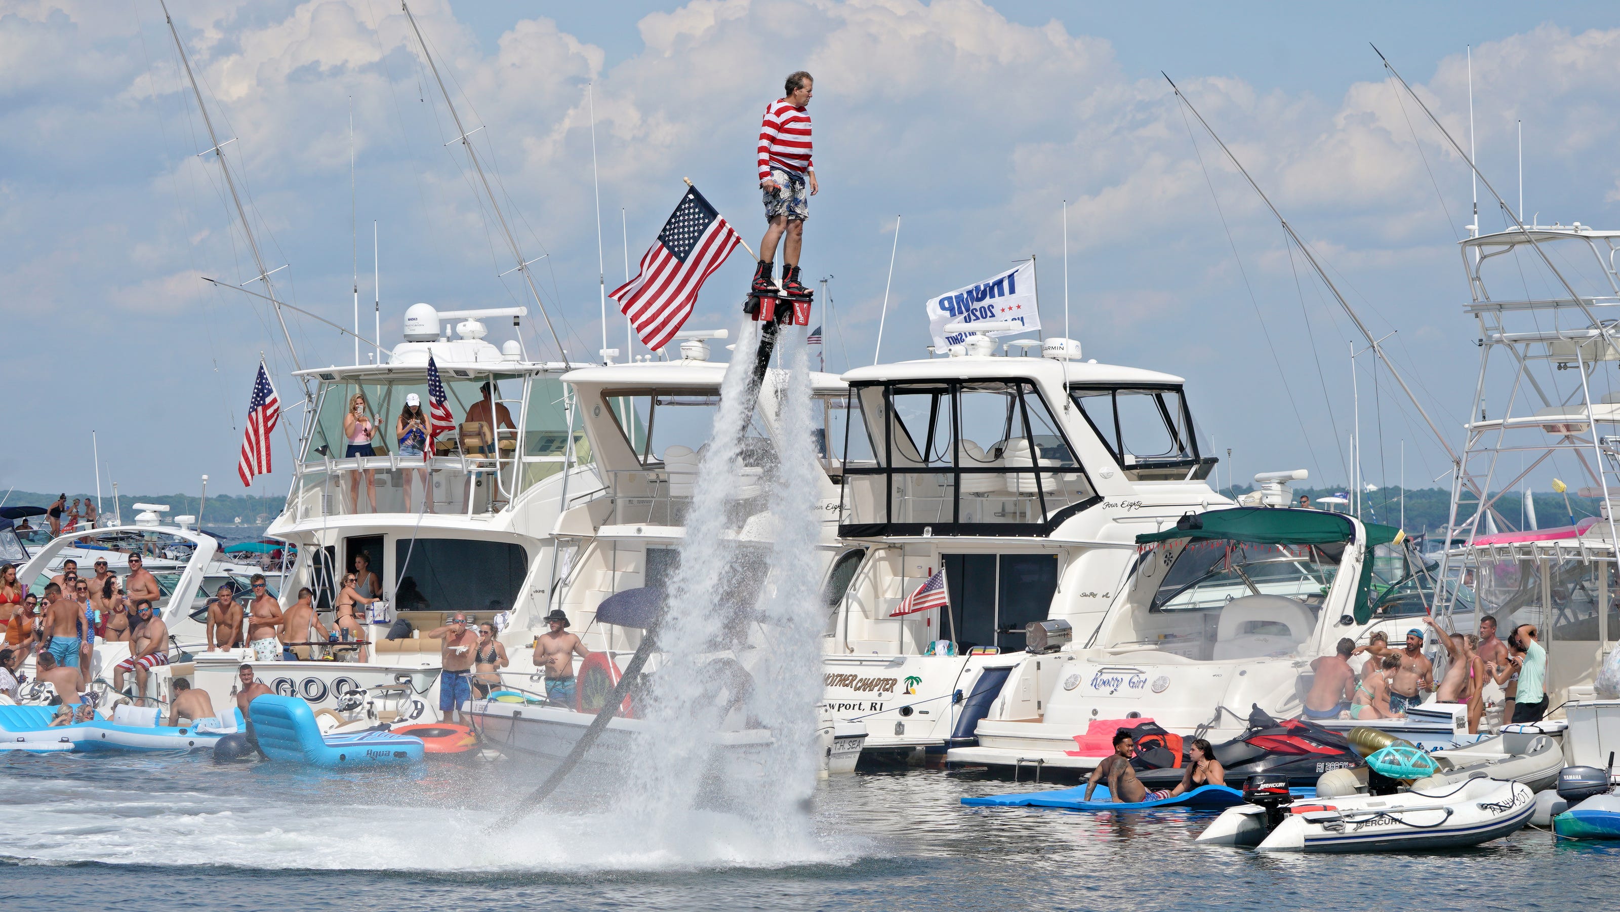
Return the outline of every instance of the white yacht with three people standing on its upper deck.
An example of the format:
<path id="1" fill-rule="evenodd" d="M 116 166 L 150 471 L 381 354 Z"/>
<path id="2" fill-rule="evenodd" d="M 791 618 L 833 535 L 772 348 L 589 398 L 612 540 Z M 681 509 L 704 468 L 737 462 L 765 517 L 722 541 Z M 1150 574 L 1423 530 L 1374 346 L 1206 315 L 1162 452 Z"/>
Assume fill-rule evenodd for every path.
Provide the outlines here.
<path id="1" fill-rule="evenodd" d="M 531 361 L 517 340 L 484 340 L 483 319 L 522 311 L 439 313 L 418 303 L 386 358 L 303 371 L 313 408 L 287 505 L 266 531 L 296 546 L 277 601 L 285 611 L 308 588 L 321 624 L 337 630 L 343 578 L 361 567 L 374 580 L 356 577 L 353 591 L 376 601 L 355 606 L 361 637 L 284 632 L 296 661 L 259 667 L 277 693 L 335 708 L 345 693 L 407 684 L 431 714 L 441 641 L 426 633 L 465 612 L 473 629 L 497 624 L 517 658 L 543 629 L 552 526 L 567 497 L 601 484 L 585 437 L 570 433 L 575 410 L 561 377 L 572 364 Z M 454 339 L 446 321 L 458 321 Z M 400 454 L 400 415 L 426 418 L 434 402 L 452 429 L 421 454 Z M 371 426 L 364 447 L 353 445 L 360 423 Z M 215 703 L 230 700 L 238 664 L 251 659 L 249 646 L 198 650 L 193 685 Z"/>

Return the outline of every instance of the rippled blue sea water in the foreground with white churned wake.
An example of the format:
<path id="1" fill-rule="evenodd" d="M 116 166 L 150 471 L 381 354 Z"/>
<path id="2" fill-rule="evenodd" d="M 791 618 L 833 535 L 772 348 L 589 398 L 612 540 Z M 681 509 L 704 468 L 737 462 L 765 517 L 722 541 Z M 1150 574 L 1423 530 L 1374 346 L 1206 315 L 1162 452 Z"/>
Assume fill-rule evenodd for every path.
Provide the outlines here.
<path id="1" fill-rule="evenodd" d="M 324 776 L 209 755 L 0 758 L 13 909 L 1609 909 L 1620 847 L 1524 829 L 1460 852 L 1256 855 L 1192 842 L 1212 815 L 964 808 L 1030 791 L 972 773 L 829 779 L 812 828 L 690 812 L 653 844 L 582 779 L 507 833 L 544 774 L 428 763 Z M 705 818 L 706 816 L 706 818 Z M 697 823 L 701 823 L 698 826 Z"/>

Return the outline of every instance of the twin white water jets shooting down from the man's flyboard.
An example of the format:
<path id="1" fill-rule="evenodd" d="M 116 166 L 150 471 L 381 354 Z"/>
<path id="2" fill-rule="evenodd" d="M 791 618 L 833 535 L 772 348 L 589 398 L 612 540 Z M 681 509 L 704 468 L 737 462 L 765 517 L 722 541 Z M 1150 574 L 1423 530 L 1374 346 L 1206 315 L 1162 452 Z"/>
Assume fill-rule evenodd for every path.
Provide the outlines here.
<path id="1" fill-rule="evenodd" d="M 659 653 L 642 705 L 648 732 L 633 748 L 633 786 L 624 812 L 653 841 L 711 837 L 752 821 L 748 839 L 779 844 L 786 855 L 812 837 L 805 799 L 815 786 L 815 705 L 820 697 L 820 583 L 815 539 L 820 471 L 810 434 L 810 377 L 804 332 L 789 329 L 779 348 L 791 366 L 778 384 L 776 475 L 770 530 L 758 548 L 739 541 L 747 510 L 734 501 L 742 471 L 742 433 L 757 405 L 750 374 L 757 324 L 744 324 L 721 384 L 714 429 L 698 463 L 680 560 L 658 630 Z M 758 520 L 758 517 L 757 517 Z M 714 747 L 714 734 L 768 729 L 771 740 L 740 752 Z"/>

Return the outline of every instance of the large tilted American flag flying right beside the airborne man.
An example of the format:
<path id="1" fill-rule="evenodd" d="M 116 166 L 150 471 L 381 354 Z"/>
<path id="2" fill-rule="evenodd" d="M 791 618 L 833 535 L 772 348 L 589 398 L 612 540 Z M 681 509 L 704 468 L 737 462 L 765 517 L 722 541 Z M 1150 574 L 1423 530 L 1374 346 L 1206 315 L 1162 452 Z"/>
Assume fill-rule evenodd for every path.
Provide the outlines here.
<path id="1" fill-rule="evenodd" d="M 698 288 L 739 243 L 742 237 L 726 219 L 695 186 L 688 188 L 658 241 L 642 254 L 642 271 L 608 296 L 619 301 L 642 343 L 658 352 L 692 316 Z"/>

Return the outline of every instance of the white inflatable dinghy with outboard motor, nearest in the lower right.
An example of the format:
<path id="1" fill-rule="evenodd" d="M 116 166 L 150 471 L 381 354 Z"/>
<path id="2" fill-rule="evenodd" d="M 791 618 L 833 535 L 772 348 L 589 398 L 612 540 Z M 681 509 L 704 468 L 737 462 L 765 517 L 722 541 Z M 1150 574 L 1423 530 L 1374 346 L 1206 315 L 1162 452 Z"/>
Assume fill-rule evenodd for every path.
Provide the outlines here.
<path id="1" fill-rule="evenodd" d="M 1529 823 L 1521 782 L 1468 779 L 1393 795 L 1346 795 L 1296 803 L 1277 789 L 1246 786 L 1249 803 L 1226 808 L 1199 842 L 1262 852 L 1379 852 L 1479 846 Z"/>

